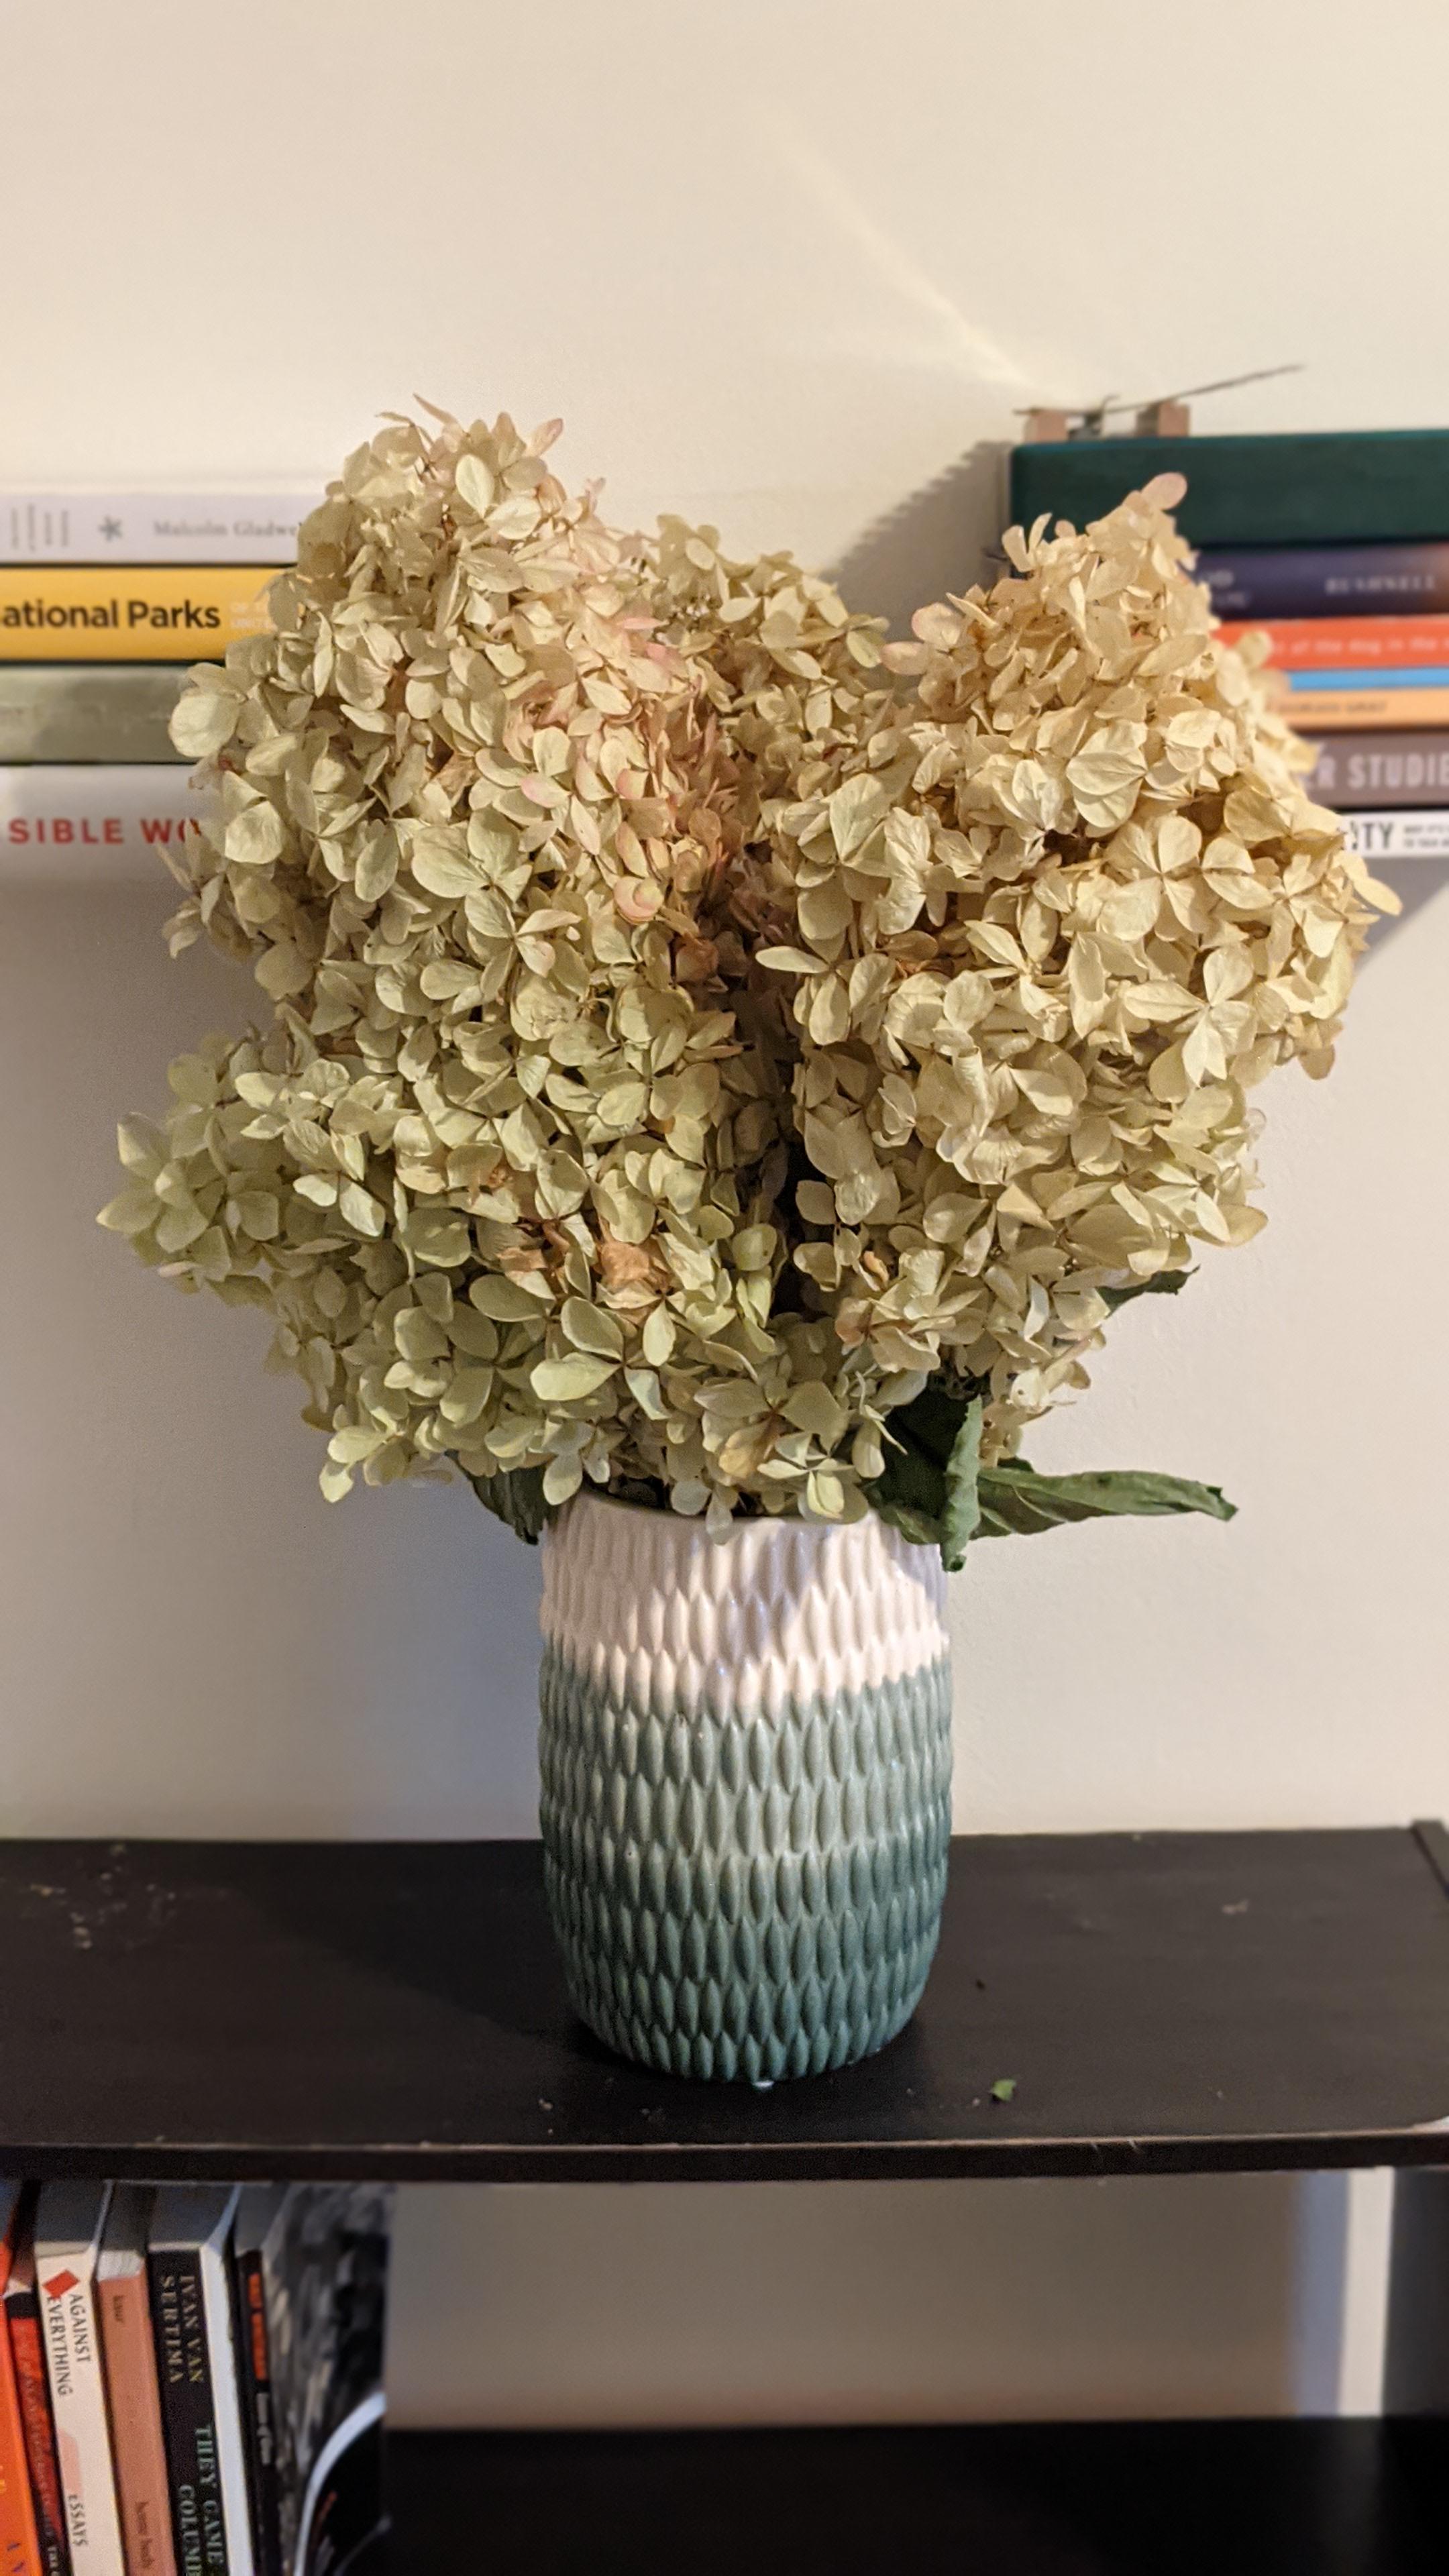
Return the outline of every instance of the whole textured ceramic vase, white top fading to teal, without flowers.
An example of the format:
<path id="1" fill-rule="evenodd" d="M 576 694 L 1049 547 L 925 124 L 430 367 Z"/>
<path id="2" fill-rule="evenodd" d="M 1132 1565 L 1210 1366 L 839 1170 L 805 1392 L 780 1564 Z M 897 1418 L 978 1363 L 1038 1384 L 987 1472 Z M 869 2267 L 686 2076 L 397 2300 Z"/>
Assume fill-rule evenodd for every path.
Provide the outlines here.
<path id="1" fill-rule="evenodd" d="M 941 1924 L 946 1579 L 874 1515 L 580 1497 L 544 1538 L 541 1832 L 583 2020 L 681 2076 L 884 2048 Z"/>

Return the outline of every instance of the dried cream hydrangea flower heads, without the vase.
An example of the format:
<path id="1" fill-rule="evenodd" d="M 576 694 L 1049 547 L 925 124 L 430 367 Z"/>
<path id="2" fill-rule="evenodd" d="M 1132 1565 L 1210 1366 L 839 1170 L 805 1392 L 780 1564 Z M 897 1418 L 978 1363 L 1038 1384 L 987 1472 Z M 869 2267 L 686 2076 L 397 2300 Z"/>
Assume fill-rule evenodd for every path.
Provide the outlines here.
<path id="1" fill-rule="evenodd" d="M 389 422 L 193 675 L 173 1066 L 103 1224 L 273 1314 L 322 1489 L 454 1461 L 853 1517 L 926 1373 L 982 1458 L 1111 1293 L 1245 1242 L 1248 1090 L 1382 902 L 1163 495 L 915 644 L 786 554 L 611 531 L 549 422 Z"/>

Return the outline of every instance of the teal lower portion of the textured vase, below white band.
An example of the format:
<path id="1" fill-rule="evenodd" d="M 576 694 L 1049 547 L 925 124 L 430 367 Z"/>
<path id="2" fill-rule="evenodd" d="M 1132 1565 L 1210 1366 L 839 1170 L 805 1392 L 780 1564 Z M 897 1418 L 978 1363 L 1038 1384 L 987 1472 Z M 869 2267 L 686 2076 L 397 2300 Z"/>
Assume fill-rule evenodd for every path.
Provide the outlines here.
<path id="1" fill-rule="evenodd" d="M 660 1716 L 541 1669 L 549 1914 L 575 2009 L 665 2074 L 822 2074 L 905 2027 L 941 1929 L 951 1672 Z"/>

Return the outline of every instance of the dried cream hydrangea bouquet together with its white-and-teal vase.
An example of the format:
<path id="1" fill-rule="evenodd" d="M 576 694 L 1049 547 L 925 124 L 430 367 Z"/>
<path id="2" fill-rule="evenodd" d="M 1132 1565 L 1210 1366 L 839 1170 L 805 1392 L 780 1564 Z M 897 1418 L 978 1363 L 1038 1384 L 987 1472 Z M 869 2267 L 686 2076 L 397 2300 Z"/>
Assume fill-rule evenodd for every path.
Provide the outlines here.
<path id="1" fill-rule="evenodd" d="M 884 647 L 786 554 L 619 536 L 552 428 L 438 420 L 348 461 L 276 631 L 178 706 L 173 943 L 268 1010 L 121 1128 L 103 1221 L 273 1314 L 330 1497 L 459 1468 L 549 1522 L 578 2009 L 678 2074 L 817 2071 L 931 1965 L 944 1566 L 1230 1510 L 1018 1440 L 1256 1234 L 1248 1092 L 1328 1069 L 1382 896 L 1181 487 L 1013 533 Z"/>

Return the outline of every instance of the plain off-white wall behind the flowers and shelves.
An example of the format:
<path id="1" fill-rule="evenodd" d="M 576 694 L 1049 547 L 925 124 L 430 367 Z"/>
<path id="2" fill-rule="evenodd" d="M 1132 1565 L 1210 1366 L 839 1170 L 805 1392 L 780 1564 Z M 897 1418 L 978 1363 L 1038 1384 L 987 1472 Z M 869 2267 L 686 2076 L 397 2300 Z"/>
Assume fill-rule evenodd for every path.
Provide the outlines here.
<path id="1" fill-rule="evenodd" d="M 413 392 L 562 410 L 619 515 L 714 515 L 900 611 L 969 577 L 1016 404 L 1302 358 L 1199 425 L 1449 412 L 1431 0 L 10 0 L 8 39 L 0 484 L 297 484 Z M 165 961 L 162 909 L 0 896 L 0 1824 L 529 1832 L 534 1561 L 462 1492 L 327 1512 L 253 1319 L 90 1224 L 113 1115 L 245 1012 Z M 962 1824 L 1449 1806 L 1446 981 L 1436 894 L 1333 1082 L 1266 1095 L 1269 1234 L 1124 1316 L 1039 1437 L 1243 1512 L 980 1551 Z M 418 2192 L 394 2396 L 1366 2403 L 1379 2221 L 1372 2187 L 1279 2179 Z"/>

